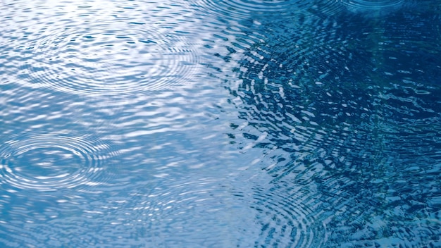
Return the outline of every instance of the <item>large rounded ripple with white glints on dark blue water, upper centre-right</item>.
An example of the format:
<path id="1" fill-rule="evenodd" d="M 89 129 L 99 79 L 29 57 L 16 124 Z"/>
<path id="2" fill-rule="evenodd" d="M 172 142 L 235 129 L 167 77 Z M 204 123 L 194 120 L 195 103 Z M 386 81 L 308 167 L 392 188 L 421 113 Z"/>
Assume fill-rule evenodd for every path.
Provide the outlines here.
<path id="1" fill-rule="evenodd" d="M 366 35 L 358 26 L 320 18 L 301 30 L 285 23 L 266 28 L 271 32 L 265 39 L 244 53 L 238 73 L 242 81 L 232 86 L 246 110 L 240 118 L 291 154 L 341 145 L 352 123 L 372 109 L 368 101 L 359 101 L 366 94 L 361 75 L 371 72 L 371 54 L 354 49 L 349 39 Z M 361 118 L 349 119 L 355 115 Z"/>

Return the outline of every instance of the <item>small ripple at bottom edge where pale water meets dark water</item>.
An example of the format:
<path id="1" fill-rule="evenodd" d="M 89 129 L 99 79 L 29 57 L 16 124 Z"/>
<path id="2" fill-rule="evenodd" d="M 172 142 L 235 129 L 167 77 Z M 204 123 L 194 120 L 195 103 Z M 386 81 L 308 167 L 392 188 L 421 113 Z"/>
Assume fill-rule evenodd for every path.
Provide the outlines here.
<path id="1" fill-rule="evenodd" d="M 326 242 L 321 211 L 311 192 L 290 183 L 269 190 L 254 187 L 253 197 L 251 207 L 261 224 L 254 247 L 322 247 Z"/>

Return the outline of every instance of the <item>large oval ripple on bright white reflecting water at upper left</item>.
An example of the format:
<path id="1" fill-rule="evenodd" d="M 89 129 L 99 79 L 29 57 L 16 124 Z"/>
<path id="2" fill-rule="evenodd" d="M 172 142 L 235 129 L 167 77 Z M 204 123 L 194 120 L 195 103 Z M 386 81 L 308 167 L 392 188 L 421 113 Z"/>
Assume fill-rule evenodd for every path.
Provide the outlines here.
<path id="1" fill-rule="evenodd" d="M 180 35 L 141 23 L 46 30 L 30 68 L 32 82 L 87 97 L 154 94 L 189 82 L 197 56 Z"/>

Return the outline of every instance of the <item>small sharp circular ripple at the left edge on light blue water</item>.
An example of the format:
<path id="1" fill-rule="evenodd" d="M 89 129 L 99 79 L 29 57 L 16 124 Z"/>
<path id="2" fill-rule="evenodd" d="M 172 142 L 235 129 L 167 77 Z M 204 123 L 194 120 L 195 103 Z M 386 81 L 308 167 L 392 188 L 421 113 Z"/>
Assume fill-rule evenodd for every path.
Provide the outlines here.
<path id="1" fill-rule="evenodd" d="M 15 135 L 0 149 L 0 180 L 42 191 L 99 185 L 103 162 L 112 156 L 108 144 L 89 135 L 68 131 Z"/>

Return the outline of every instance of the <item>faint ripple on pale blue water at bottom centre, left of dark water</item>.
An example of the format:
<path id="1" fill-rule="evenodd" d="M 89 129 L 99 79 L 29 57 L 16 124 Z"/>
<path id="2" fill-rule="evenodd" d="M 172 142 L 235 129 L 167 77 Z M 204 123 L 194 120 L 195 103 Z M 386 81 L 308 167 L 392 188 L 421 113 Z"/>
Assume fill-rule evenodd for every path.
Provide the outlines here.
<path id="1" fill-rule="evenodd" d="M 145 243 L 155 247 L 240 247 L 248 242 L 245 247 L 250 246 L 243 233 L 253 228 L 247 225 L 253 216 L 220 178 L 182 175 L 152 186 L 130 193 L 130 202 L 112 202 L 122 211 L 115 213 L 120 216 L 118 224 L 139 225 L 148 232 L 142 233 L 147 237 Z"/>

